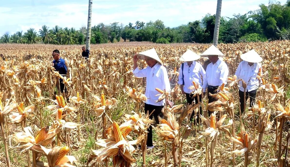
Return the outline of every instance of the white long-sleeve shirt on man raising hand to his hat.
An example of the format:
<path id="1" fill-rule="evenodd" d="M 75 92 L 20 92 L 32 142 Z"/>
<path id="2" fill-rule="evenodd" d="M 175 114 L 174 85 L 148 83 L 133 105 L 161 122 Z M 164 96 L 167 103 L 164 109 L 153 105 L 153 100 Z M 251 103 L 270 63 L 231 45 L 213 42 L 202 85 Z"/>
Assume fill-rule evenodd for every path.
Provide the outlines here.
<path id="1" fill-rule="evenodd" d="M 146 67 L 145 69 L 139 70 L 136 68 L 133 71 L 135 77 L 146 77 L 146 90 L 145 95 L 147 97 L 146 104 L 151 104 L 155 106 L 163 106 L 165 104 L 165 99 L 161 102 L 156 102 L 158 100 L 157 94 L 160 94 L 155 88 L 159 88 L 162 91 L 171 91 L 170 83 L 168 79 L 167 70 L 160 63 L 157 63 L 154 67 Z"/>

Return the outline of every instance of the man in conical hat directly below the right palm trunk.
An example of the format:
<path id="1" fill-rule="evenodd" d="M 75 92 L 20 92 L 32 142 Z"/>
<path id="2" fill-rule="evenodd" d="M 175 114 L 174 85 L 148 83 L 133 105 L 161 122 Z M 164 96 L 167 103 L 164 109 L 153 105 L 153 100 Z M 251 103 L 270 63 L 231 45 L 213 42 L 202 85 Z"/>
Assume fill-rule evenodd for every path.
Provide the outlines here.
<path id="1" fill-rule="evenodd" d="M 218 87 L 222 85 L 222 83 L 226 84 L 226 80 L 229 75 L 228 66 L 224 61 L 222 61 L 219 57 L 223 57 L 224 54 L 216 48 L 214 45 L 209 47 L 205 52 L 202 53 L 202 57 L 208 57 L 209 65 L 206 67 L 206 77 L 203 80 L 203 94 L 205 95 L 206 88 L 208 89 L 209 103 L 216 101 L 215 98 L 209 96 L 209 93 L 217 93 L 216 90 Z M 211 111 L 208 111 L 208 115 L 211 115 Z"/>

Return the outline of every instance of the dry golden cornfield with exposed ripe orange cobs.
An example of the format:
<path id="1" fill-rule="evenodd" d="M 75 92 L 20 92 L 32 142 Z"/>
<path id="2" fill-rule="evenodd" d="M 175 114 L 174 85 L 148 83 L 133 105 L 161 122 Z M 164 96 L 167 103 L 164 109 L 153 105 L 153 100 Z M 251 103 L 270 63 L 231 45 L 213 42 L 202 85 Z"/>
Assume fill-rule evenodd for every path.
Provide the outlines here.
<path id="1" fill-rule="evenodd" d="M 218 101 L 188 105 L 177 85 L 179 58 L 187 49 L 200 54 L 209 46 L 91 45 L 86 61 L 79 45 L 0 45 L 6 57 L 0 60 L 0 166 L 290 166 L 290 42 L 218 45 L 229 67 L 228 84 L 212 95 Z M 146 79 L 133 75 L 134 54 L 153 47 L 172 89 L 160 90 L 160 98 L 174 102 L 157 125 L 144 113 Z M 67 94 L 56 87 L 62 76 L 51 66 L 54 49 L 66 60 Z M 263 58 L 257 75 L 262 82 L 256 104 L 236 116 L 234 74 L 240 55 L 251 49 Z M 139 67 L 146 67 L 144 60 Z M 189 118 L 199 106 L 202 123 L 193 125 Z M 207 109 L 215 111 L 210 118 Z M 155 148 L 146 150 L 150 125 Z"/>

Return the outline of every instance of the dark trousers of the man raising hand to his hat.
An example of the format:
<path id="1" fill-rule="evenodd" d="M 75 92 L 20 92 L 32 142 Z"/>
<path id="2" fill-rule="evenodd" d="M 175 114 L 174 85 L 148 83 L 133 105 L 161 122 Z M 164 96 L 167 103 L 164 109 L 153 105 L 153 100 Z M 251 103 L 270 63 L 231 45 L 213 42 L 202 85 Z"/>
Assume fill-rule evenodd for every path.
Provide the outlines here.
<path id="1" fill-rule="evenodd" d="M 149 115 L 152 113 L 153 110 L 155 110 L 150 116 L 149 118 L 151 120 L 154 120 L 156 122 L 156 124 L 159 124 L 159 120 L 158 120 L 158 116 L 160 116 L 161 118 L 163 118 L 163 113 L 162 113 L 162 108 L 164 106 L 155 106 L 155 105 L 151 105 L 151 104 L 146 104 L 144 106 L 145 109 L 145 113 L 149 112 Z M 152 147 L 153 146 L 153 142 L 152 142 L 152 126 L 149 126 L 148 129 L 148 135 L 147 135 L 147 147 Z"/>

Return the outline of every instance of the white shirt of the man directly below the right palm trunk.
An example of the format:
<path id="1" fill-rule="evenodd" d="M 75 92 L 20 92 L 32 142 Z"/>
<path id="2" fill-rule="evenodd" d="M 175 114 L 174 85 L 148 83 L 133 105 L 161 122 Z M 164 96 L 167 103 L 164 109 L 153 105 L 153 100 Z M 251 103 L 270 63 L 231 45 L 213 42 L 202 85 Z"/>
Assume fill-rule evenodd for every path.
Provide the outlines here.
<path id="1" fill-rule="evenodd" d="M 203 91 L 209 86 L 221 86 L 222 83 L 226 84 L 226 80 L 228 79 L 229 69 L 226 63 L 220 59 L 213 64 L 209 63 L 206 67 L 205 71 L 206 77 L 203 80 Z"/>

